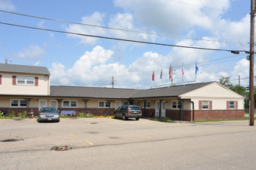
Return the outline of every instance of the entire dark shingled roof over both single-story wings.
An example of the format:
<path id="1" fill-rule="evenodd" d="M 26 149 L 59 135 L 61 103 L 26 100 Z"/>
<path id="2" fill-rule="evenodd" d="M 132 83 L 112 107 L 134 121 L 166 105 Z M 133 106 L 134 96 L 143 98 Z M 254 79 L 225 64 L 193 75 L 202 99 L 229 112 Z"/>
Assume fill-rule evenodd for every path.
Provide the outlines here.
<path id="1" fill-rule="evenodd" d="M 213 82 L 210 82 L 213 83 Z M 178 97 L 183 93 L 204 87 L 209 83 L 194 83 L 175 87 L 163 87 L 149 90 L 102 88 L 102 87 L 64 87 L 50 86 L 50 97 L 88 97 L 88 98 L 144 98 Z"/>

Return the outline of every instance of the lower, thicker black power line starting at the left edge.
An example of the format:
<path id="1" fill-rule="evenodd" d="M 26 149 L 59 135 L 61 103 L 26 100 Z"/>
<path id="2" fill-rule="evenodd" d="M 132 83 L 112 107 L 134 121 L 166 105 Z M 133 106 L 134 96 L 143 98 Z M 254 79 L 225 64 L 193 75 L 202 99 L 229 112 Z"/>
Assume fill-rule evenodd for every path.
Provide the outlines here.
<path id="1" fill-rule="evenodd" d="M 95 36 L 95 35 L 81 34 L 81 33 L 76 33 L 76 32 L 65 32 L 65 31 L 59 31 L 59 30 L 54 30 L 54 29 L 42 29 L 42 28 L 32 27 L 32 26 L 22 26 L 22 25 L 16 25 L 16 24 L 11 24 L 11 23 L 6 23 L 6 22 L 0 22 L 0 24 L 8 25 L 8 26 L 17 26 L 17 27 L 22 27 L 22 28 L 26 28 L 26 29 L 37 29 L 37 30 L 43 30 L 43 31 L 49 31 L 49 32 L 67 33 L 67 34 L 72 34 L 72 35 L 76 35 L 76 36 L 88 36 L 88 37 L 94 37 L 94 38 L 99 38 L 99 39 L 112 39 L 112 40 L 125 41 L 125 42 L 137 42 L 137 43 L 144 43 L 144 44 L 157 45 L 157 46 L 171 46 L 171 47 L 186 48 L 186 49 L 203 49 L 203 50 L 223 51 L 223 52 L 231 52 L 231 53 L 247 52 L 245 50 L 212 49 L 212 48 L 204 48 L 204 47 L 197 47 L 197 46 L 178 46 L 178 45 L 166 44 L 166 43 L 138 41 L 138 40 L 133 40 L 133 39 L 119 39 L 119 38 L 113 38 L 113 37 L 107 37 L 107 36 Z"/>

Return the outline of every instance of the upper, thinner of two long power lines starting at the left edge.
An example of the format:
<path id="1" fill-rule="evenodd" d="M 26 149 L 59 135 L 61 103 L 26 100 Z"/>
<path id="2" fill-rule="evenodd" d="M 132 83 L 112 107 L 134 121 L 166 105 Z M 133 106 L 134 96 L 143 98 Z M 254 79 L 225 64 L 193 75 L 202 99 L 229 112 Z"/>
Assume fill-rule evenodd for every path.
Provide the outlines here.
<path id="1" fill-rule="evenodd" d="M 165 34 L 157 34 L 157 33 L 152 33 L 152 32 L 141 32 L 141 31 L 136 31 L 136 30 L 128 30 L 128 29 L 118 29 L 118 28 L 112 28 L 108 26 L 97 26 L 97 25 L 92 25 L 92 24 L 85 24 L 85 23 L 79 23 L 79 22 L 70 22 L 70 21 L 64 21 L 60 19 L 50 19 L 46 17 L 40 17 L 36 15 L 27 15 L 27 14 L 22 14 L 22 13 L 17 13 L 17 12 L 9 12 L 0 9 L 0 12 L 6 12 L 14 15 L 22 15 L 26 17 L 31 17 L 31 18 L 36 18 L 36 19 L 45 19 L 45 20 L 50 20 L 50 21 L 57 21 L 57 22 L 66 22 L 66 23 L 71 23 L 71 24 L 77 24 L 81 26 L 92 26 L 92 27 L 98 27 L 102 29 L 113 29 L 113 30 L 118 30 L 118 31 L 124 31 L 124 32 L 135 32 L 135 33 L 142 33 L 142 34 L 147 34 L 147 35 L 152 35 L 152 36 L 166 36 L 166 37 L 172 37 L 172 38 L 178 38 L 178 39 L 193 39 L 193 40 L 201 40 L 201 41 L 208 41 L 208 42 L 224 42 L 224 43 L 238 43 L 238 44 L 249 44 L 250 42 L 234 42 L 234 41 L 224 41 L 224 40 L 214 40 L 214 39 L 198 39 L 198 38 L 191 38 L 191 37 L 185 37 L 185 36 L 171 36 L 171 35 L 165 35 Z"/>

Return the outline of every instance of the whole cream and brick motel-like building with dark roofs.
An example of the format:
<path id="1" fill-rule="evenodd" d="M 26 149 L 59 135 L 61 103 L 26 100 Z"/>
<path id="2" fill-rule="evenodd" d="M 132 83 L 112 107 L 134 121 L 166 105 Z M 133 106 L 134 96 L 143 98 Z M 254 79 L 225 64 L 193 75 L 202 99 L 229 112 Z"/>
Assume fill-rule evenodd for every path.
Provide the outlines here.
<path id="1" fill-rule="evenodd" d="M 41 107 L 93 115 L 112 115 L 121 105 L 137 104 L 144 117 L 182 121 L 244 118 L 244 97 L 217 82 L 147 90 L 51 86 L 43 66 L 0 63 L 0 110 L 37 114 Z"/>

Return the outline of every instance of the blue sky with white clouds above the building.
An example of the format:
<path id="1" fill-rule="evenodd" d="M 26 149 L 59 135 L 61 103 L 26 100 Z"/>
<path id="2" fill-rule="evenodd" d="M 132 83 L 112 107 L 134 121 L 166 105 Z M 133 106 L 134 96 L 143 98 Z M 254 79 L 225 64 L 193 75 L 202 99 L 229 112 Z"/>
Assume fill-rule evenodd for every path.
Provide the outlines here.
<path id="1" fill-rule="evenodd" d="M 248 54 L 230 50 L 250 50 L 250 8 L 248 0 L 0 0 L 0 63 L 47 66 L 50 84 L 60 86 L 112 87 L 114 80 L 116 88 L 166 87 L 172 66 L 174 85 L 226 76 L 235 85 L 240 76 L 247 87 Z"/>

